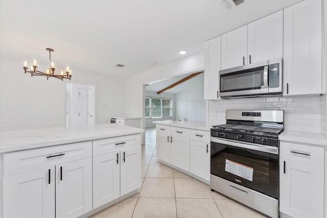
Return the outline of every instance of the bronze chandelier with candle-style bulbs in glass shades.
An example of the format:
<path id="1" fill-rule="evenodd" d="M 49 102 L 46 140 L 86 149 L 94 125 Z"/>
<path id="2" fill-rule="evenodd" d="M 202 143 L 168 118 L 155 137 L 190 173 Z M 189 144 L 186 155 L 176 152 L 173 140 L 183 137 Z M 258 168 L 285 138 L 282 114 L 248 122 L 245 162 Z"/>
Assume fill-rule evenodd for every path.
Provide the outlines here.
<path id="1" fill-rule="evenodd" d="M 45 76 L 47 80 L 49 80 L 49 77 L 54 77 L 57 79 L 60 79 L 63 81 L 63 79 L 69 79 L 72 78 L 72 70 L 69 65 L 65 66 L 65 70 L 61 70 L 59 75 L 55 74 L 56 65 L 55 62 L 51 60 L 51 52 L 53 52 L 53 49 L 46 48 L 46 51 L 49 51 L 49 59 L 50 59 L 50 66 L 46 69 L 46 72 L 41 72 L 36 70 L 38 65 L 38 62 L 36 58 L 33 58 L 32 63 L 29 65 L 28 60 L 24 60 L 22 63 L 22 68 L 24 69 L 24 72 L 29 72 L 31 74 L 31 77 L 34 76 Z"/>

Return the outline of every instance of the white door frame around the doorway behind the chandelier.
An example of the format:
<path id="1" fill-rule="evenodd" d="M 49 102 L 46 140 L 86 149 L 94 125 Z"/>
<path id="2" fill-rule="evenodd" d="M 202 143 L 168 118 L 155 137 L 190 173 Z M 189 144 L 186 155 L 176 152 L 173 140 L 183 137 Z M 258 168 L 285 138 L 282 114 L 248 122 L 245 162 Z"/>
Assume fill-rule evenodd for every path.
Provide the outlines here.
<path id="1" fill-rule="evenodd" d="M 68 98 L 67 98 L 67 84 L 75 84 L 75 85 L 90 85 L 90 86 L 94 86 L 94 92 L 93 92 L 93 116 L 94 116 L 94 125 L 98 124 L 97 121 L 97 117 L 98 117 L 98 110 L 97 110 L 97 102 L 98 102 L 98 94 L 97 94 L 97 84 L 96 83 L 86 83 L 86 82 L 72 82 L 72 81 L 65 81 L 65 85 L 64 85 L 64 125 L 65 127 L 67 127 L 67 109 L 68 109 Z"/>

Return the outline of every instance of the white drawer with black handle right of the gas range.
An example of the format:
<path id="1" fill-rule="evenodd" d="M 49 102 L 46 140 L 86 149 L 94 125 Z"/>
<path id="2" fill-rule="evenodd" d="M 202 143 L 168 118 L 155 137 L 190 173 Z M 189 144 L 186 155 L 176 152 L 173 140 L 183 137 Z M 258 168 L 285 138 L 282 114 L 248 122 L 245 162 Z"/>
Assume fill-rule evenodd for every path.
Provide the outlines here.
<path id="1" fill-rule="evenodd" d="M 279 143 L 279 157 L 303 163 L 323 166 L 324 149 L 304 144 L 289 143 L 281 141 Z"/>

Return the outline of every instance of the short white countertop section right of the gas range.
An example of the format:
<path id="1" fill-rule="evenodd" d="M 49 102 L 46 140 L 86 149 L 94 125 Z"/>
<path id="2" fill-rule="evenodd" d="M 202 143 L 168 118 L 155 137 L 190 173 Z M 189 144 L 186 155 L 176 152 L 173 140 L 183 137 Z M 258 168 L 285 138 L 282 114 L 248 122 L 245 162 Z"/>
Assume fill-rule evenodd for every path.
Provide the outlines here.
<path id="1" fill-rule="evenodd" d="M 283 131 L 278 135 L 279 140 L 307 143 L 317 146 L 327 146 L 327 138 L 325 134 L 322 133 L 312 133 L 312 132 L 298 132 L 298 131 Z"/>

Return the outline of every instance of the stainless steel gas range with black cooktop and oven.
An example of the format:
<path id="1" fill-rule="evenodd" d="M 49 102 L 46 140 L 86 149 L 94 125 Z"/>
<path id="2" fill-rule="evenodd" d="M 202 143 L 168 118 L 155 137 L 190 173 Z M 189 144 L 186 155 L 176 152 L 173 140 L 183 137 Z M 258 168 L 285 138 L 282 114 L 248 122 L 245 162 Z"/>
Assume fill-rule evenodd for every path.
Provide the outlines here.
<path id="1" fill-rule="evenodd" d="M 271 217 L 278 217 L 278 134 L 283 110 L 227 110 L 211 129 L 210 186 Z"/>

